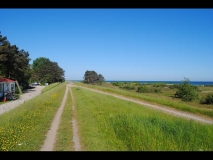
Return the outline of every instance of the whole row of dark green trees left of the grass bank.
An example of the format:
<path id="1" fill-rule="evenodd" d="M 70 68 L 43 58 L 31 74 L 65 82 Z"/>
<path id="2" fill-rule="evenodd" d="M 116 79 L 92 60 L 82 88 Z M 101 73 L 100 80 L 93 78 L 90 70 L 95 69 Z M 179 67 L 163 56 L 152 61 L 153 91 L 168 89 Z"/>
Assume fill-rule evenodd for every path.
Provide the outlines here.
<path id="1" fill-rule="evenodd" d="M 10 44 L 6 36 L 0 32 L 0 76 L 17 80 L 20 84 L 31 81 L 40 83 L 63 82 L 64 70 L 57 62 L 39 57 L 31 61 L 29 52 Z"/>

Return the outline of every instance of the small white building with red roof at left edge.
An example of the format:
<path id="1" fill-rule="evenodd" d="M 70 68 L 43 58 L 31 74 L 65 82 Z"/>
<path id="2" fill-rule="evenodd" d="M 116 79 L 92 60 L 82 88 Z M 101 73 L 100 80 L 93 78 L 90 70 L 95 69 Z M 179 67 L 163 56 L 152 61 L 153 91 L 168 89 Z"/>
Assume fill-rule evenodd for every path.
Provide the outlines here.
<path id="1" fill-rule="evenodd" d="M 15 93 L 15 81 L 0 77 L 0 97 L 4 97 L 4 93 L 6 92 L 12 92 L 12 89 L 14 89 Z"/>

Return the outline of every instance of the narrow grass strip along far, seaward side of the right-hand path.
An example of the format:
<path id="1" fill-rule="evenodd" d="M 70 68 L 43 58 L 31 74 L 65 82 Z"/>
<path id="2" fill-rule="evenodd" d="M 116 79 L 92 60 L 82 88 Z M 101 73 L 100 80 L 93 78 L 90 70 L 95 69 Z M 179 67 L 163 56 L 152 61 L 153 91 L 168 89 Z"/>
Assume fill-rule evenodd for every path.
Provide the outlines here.
<path id="1" fill-rule="evenodd" d="M 130 92 L 130 91 L 109 88 L 109 87 L 104 87 L 104 86 L 98 86 L 98 85 L 88 85 L 88 84 L 85 85 L 80 82 L 75 82 L 75 84 L 79 85 L 79 86 L 85 86 L 88 88 L 93 88 L 93 89 L 97 89 L 97 90 L 108 92 L 108 93 L 123 95 L 123 96 L 130 97 L 133 99 L 143 100 L 143 101 L 151 102 L 153 104 L 159 104 L 159 105 L 163 105 L 166 107 L 179 109 L 182 111 L 187 111 L 189 113 L 200 114 L 200 115 L 203 115 L 203 116 L 206 116 L 209 118 L 213 118 L 213 110 L 193 107 L 185 102 L 181 102 L 181 101 L 177 102 L 174 100 L 168 100 L 168 99 L 164 99 L 162 97 L 158 97 L 157 95 L 145 95 L 145 94 L 134 93 L 134 92 Z"/>

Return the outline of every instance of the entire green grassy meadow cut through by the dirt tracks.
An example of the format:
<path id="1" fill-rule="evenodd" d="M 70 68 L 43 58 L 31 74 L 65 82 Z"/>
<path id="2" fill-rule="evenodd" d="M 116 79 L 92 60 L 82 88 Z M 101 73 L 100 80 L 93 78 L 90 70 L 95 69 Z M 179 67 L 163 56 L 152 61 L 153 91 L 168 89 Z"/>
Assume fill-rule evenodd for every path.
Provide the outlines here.
<path id="1" fill-rule="evenodd" d="M 59 108 L 68 82 L 46 86 L 41 95 L 0 116 L 1 151 L 39 151 Z M 75 82 L 68 92 L 54 151 L 73 151 L 72 105 L 83 151 L 212 151 L 213 125 L 186 120 L 151 108 L 103 95 L 78 86 L 140 99 L 168 107 L 212 111 L 200 104 L 184 103 L 167 93 L 135 93 L 105 83 Z M 50 89 L 51 88 L 51 89 Z M 167 89 L 167 88 L 165 88 Z M 156 100 L 157 99 L 157 100 Z M 171 105 L 171 106 L 169 106 Z M 174 107 L 175 108 L 175 107 Z M 187 110 L 187 109 L 185 109 Z M 188 109 L 191 111 L 190 109 Z M 201 114 L 202 112 L 199 112 Z M 204 114 L 207 116 L 208 114 Z M 211 114 L 210 114 L 211 115 Z M 210 116 L 209 116 L 210 117 Z"/>

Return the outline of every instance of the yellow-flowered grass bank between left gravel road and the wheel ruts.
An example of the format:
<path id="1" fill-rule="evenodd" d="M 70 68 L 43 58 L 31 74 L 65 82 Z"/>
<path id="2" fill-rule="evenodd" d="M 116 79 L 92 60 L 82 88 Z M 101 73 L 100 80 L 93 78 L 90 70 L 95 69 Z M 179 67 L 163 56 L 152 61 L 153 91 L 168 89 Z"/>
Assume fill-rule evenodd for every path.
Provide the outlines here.
<path id="1" fill-rule="evenodd" d="M 65 83 L 61 83 L 2 114 L 0 116 L 0 150 L 40 150 L 62 102 L 65 87 Z"/>

